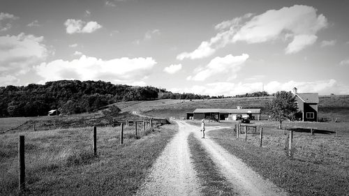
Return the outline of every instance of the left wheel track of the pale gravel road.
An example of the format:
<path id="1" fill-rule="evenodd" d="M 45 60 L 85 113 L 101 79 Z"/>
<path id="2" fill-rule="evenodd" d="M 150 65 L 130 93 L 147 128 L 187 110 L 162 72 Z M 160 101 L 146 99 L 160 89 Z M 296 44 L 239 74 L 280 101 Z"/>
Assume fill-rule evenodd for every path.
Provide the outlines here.
<path id="1" fill-rule="evenodd" d="M 165 147 L 135 195 L 200 195 L 188 147 L 190 133 L 179 124 L 179 133 Z"/>

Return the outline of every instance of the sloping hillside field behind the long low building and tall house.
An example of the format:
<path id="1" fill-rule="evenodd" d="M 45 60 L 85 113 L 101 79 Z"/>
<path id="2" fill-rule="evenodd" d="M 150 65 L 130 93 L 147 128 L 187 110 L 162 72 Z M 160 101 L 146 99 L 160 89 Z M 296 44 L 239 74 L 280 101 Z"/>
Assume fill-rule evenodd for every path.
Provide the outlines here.
<path id="1" fill-rule="evenodd" d="M 209 100 L 149 100 L 116 103 L 125 112 L 139 111 L 149 116 L 186 118 L 186 112 L 193 112 L 196 108 L 260 108 L 261 119 L 267 119 L 265 104 L 273 97 L 259 98 L 224 98 Z M 337 119 L 349 121 L 349 96 L 320 96 L 319 119 Z"/>

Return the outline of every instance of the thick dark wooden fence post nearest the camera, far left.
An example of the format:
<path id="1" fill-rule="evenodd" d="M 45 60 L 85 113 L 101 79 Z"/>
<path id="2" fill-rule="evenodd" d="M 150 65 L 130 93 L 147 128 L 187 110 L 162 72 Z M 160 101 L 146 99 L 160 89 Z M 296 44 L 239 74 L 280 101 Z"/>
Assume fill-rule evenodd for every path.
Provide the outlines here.
<path id="1" fill-rule="evenodd" d="M 18 141 L 18 166 L 18 189 L 22 192 L 25 189 L 24 135 L 20 135 Z"/>

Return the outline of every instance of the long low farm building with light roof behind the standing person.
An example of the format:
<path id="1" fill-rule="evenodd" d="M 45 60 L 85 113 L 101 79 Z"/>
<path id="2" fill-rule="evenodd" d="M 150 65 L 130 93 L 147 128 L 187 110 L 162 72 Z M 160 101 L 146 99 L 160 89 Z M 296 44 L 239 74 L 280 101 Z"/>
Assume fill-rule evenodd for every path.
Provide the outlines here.
<path id="1" fill-rule="evenodd" d="M 219 121 L 235 121 L 237 116 L 260 119 L 260 109 L 214 109 L 214 108 L 198 108 L 192 113 L 186 113 L 186 119 L 217 119 Z"/>

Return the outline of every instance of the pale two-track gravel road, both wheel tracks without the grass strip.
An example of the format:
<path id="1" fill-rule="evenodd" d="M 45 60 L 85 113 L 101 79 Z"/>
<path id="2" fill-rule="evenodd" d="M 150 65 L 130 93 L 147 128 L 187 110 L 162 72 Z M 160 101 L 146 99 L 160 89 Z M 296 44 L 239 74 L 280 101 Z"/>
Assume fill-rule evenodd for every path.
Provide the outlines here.
<path id="1" fill-rule="evenodd" d="M 151 174 L 137 195 L 200 195 L 200 183 L 193 169 L 188 135 L 194 133 L 202 146 L 220 168 L 221 174 L 239 195 L 288 195 L 274 183 L 262 179 L 246 164 L 216 144 L 213 140 L 201 139 L 200 128 L 185 121 L 177 121 L 179 133 L 166 146 Z M 207 127 L 207 132 L 219 127 Z"/>

